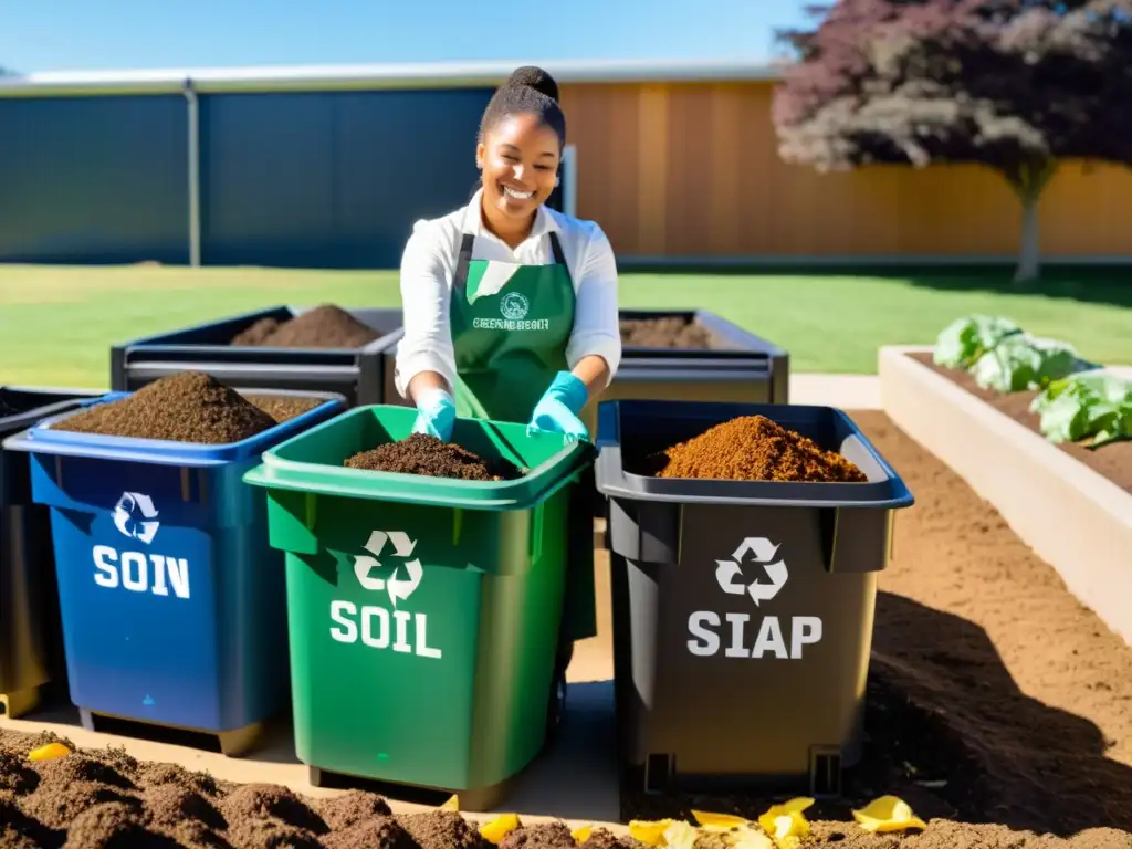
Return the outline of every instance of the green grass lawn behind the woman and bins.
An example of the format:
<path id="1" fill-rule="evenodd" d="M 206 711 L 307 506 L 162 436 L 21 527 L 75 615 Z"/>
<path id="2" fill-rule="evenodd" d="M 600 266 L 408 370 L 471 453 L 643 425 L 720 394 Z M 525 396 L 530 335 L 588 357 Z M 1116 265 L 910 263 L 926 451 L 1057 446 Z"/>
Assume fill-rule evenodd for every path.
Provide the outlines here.
<path id="1" fill-rule="evenodd" d="M 623 307 L 700 307 L 790 352 L 795 371 L 874 374 L 876 349 L 931 343 L 967 312 L 1005 315 L 1105 363 L 1132 363 L 1132 283 L 1054 272 L 625 274 Z M 0 265 L 0 385 L 109 386 L 113 342 L 276 303 L 392 307 L 396 272 Z"/>

